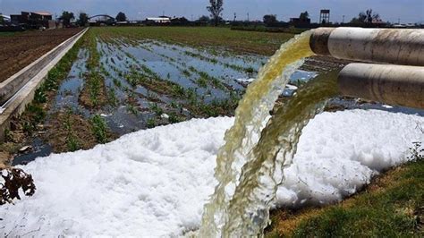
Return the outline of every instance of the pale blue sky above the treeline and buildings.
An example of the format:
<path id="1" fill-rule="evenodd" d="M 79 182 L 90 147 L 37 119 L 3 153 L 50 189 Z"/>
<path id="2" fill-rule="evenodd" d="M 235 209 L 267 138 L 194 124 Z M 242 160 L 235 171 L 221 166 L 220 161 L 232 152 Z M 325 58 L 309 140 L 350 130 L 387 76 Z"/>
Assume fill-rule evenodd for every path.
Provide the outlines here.
<path id="1" fill-rule="evenodd" d="M 196 20 L 208 15 L 208 0 L 0 0 L 0 13 L 47 11 L 59 15 L 64 10 L 89 15 L 126 13 L 130 20 L 143 20 L 158 15 L 185 16 Z M 280 21 L 289 21 L 308 11 L 312 21 L 319 20 L 320 9 L 330 9 L 330 21 L 350 21 L 358 13 L 372 8 L 383 21 L 415 23 L 424 21 L 424 0 L 224 0 L 225 19 L 261 20 L 265 14 L 276 14 Z"/>

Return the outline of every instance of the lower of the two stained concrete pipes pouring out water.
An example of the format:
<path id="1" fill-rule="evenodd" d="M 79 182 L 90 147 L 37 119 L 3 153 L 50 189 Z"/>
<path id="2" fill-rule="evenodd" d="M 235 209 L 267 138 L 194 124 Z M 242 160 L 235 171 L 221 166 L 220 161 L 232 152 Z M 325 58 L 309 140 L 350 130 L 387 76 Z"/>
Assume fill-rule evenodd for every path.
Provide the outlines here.
<path id="1" fill-rule="evenodd" d="M 344 96 L 424 109 L 424 67 L 349 64 L 338 76 Z"/>

